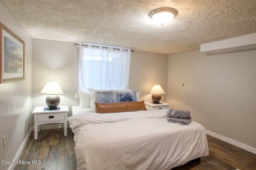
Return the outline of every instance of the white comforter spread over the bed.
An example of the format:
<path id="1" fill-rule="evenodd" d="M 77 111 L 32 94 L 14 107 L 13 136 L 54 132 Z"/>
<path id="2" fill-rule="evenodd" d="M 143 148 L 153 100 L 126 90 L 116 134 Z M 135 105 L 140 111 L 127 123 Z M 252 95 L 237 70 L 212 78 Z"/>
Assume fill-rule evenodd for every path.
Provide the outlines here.
<path id="1" fill-rule="evenodd" d="M 68 117 L 78 170 L 169 170 L 208 156 L 206 131 L 170 123 L 168 109 Z"/>

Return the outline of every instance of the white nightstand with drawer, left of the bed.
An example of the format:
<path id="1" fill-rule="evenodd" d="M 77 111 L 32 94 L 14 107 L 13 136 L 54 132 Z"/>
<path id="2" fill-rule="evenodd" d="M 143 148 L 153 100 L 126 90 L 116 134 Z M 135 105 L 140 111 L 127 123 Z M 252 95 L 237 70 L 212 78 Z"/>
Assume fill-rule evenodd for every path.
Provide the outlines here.
<path id="1" fill-rule="evenodd" d="M 38 106 L 32 111 L 34 114 L 34 139 L 37 140 L 37 133 L 40 132 L 40 125 L 48 123 L 64 123 L 64 136 L 67 136 L 67 115 L 68 106 L 58 106 L 60 109 L 49 110 L 46 106 Z M 44 111 L 45 110 L 45 111 Z"/>

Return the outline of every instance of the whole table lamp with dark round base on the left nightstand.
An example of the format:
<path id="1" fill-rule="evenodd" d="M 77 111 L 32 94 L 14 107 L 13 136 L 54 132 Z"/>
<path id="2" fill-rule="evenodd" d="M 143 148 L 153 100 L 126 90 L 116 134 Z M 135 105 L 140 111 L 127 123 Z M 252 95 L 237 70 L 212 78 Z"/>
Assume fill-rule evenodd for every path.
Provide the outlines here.
<path id="1" fill-rule="evenodd" d="M 60 104 L 60 97 L 58 95 L 64 94 L 58 82 L 48 82 L 40 93 L 49 94 L 45 100 L 49 110 L 57 109 L 57 106 Z"/>

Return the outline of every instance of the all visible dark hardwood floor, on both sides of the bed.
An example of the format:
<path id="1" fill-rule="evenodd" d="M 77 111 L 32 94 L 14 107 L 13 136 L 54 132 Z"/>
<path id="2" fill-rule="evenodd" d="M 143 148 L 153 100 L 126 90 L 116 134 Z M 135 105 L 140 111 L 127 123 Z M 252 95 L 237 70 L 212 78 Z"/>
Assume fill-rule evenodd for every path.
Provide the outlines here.
<path id="1" fill-rule="evenodd" d="M 194 160 L 172 170 L 256 170 L 256 154 L 207 135 L 209 156 Z M 73 133 L 68 128 L 41 130 L 38 140 L 34 131 L 19 160 L 40 160 L 40 164 L 17 164 L 14 170 L 76 170 Z"/>

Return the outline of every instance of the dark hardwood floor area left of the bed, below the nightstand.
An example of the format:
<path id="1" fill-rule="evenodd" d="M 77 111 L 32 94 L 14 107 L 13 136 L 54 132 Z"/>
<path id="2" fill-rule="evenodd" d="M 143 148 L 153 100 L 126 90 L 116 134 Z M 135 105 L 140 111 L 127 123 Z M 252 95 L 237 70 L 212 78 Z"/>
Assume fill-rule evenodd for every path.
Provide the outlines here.
<path id="1" fill-rule="evenodd" d="M 19 160 L 40 160 L 40 164 L 17 164 L 14 170 L 76 170 L 74 147 L 70 128 L 67 137 L 62 128 L 41 130 L 38 140 L 34 140 L 33 131 Z"/>

